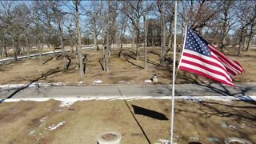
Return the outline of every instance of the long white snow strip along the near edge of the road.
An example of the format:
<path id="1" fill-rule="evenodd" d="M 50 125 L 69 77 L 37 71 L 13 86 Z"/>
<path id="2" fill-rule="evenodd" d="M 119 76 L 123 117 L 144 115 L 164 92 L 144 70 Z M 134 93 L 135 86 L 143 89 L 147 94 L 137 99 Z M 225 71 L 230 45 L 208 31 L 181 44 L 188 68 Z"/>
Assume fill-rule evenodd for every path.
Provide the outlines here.
<path id="1" fill-rule="evenodd" d="M 60 101 L 61 107 L 71 106 L 74 102 L 78 101 L 90 101 L 90 100 L 123 100 L 126 99 L 128 101 L 138 100 L 138 99 L 171 99 L 170 96 L 134 96 L 134 97 L 120 97 L 120 96 L 98 96 L 98 97 L 70 97 L 70 98 L 9 98 L 9 99 L 0 99 L 0 102 L 20 102 L 20 101 L 32 101 L 32 102 L 44 102 L 50 99 L 54 99 L 56 101 Z M 175 99 L 184 99 L 193 102 L 200 102 L 204 100 L 216 100 L 216 101 L 256 101 L 256 96 L 176 96 Z"/>

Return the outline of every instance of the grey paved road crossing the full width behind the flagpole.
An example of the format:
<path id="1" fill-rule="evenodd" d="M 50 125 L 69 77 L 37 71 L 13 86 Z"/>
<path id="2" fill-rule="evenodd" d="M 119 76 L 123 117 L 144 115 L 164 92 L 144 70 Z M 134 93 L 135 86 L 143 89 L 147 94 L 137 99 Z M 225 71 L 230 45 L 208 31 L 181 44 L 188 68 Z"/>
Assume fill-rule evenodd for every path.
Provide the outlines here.
<path id="1" fill-rule="evenodd" d="M 26 88 L 0 88 L 0 98 L 53 98 L 53 97 L 97 97 L 97 96 L 170 96 L 170 85 L 147 86 L 41 86 Z M 199 86 L 196 84 L 175 85 L 175 96 L 242 96 L 256 95 L 256 83 L 237 84 L 234 89 L 218 84 Z"/>

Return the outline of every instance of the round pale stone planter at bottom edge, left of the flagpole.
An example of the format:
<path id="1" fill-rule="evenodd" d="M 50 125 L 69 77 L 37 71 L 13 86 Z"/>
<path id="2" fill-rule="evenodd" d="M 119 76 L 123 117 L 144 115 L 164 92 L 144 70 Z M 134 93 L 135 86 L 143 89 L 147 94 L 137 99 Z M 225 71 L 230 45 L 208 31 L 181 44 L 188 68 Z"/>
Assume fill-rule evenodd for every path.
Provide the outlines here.
<path id="1" fill-rule="evenodd" d="M 97 137 L 98 144 L 119 144 L 122 135 L 118 131 L 107 131 L 99 134 Z"/>

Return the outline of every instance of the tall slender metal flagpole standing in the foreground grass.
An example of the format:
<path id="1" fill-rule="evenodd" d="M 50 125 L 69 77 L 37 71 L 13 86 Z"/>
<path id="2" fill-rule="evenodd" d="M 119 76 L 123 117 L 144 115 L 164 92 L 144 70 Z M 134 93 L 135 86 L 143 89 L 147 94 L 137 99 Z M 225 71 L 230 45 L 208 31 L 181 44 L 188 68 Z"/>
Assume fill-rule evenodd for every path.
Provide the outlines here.
<path id="1" fill-rule="evenodd" d="M 174 139 L 174 84 L 175 84 L 175 64 L 176 64 L 176 22 L 177 22 L 177 0 L 175 1 L 174 11 L 174 60 L 173 60 L 173 88 L 171 97 L 171 118 L 170 118 L 170 144 L 173 144 Z"/>

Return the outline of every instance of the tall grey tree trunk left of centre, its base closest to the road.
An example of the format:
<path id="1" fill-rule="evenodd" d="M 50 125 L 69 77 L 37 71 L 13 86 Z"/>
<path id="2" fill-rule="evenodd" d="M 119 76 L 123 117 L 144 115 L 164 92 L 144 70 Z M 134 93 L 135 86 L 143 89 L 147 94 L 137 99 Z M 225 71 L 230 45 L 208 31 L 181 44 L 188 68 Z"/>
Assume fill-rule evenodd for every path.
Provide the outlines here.
<path id="1" fill-rule="evenodd" d="M 85 72 L 83 70 L 83 62 L 82 62 L 82 46 L 81 46 L 81 32 L 80 32 L 80 18 L 79 18 L 79 1 L 75 1 L 75 19 L 76 19 L 76 28 L 77 28 L 77 35 L 78 35 L 78 53 L 79 53 L 79 74 L 80 77 L 84 77 Z"/>

